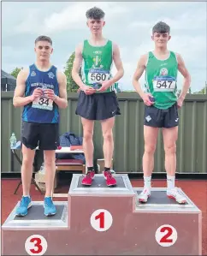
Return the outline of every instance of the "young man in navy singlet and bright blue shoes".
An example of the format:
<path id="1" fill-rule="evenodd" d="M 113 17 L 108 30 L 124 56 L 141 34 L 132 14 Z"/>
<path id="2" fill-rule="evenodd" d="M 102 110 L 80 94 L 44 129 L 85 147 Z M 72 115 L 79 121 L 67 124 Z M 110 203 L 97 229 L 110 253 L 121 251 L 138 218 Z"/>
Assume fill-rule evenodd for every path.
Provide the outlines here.
<path id="1" fill-rule="evenodd" d="M 32 206 L 30 184 L 33 174 L 33 158 L 38 146 L 44 151 L 46 192 L 44 215 L 56 214 L 52 201 L 56 172 L 56 148 L 59 146 L 59 108 L 67 108 L 66 76 L 50 64 L 53 51 L 49 37 L 39 36 L 35 40 L 36 63 L 22 69 L 16 80 L 13 103 L 23 106 L 22 112 L 22 166 L 21 180 L 23 196 L 16 209 L 17 216 L 27 215 Z"/>

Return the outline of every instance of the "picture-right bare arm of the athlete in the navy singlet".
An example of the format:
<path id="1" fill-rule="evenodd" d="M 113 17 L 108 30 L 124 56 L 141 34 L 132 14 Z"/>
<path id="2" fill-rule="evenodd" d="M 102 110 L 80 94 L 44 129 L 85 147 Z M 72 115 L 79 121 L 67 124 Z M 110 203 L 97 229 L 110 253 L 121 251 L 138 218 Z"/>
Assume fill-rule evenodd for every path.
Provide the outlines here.
<path id="1" fill-rule="evenodd" d="M 68 106 L 66 75 L 58 71 L 56 78 L 59 86 L 59 96 L 55 95 L 54 102 L 60 109 L 66 109 Z"/>

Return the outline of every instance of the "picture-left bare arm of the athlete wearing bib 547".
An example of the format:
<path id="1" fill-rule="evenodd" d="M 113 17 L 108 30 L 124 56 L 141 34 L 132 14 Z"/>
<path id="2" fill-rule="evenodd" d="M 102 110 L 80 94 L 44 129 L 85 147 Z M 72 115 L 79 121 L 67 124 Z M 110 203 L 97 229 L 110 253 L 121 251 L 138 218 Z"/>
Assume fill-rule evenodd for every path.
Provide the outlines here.
<path id="1" fill-rule="evenodd" d="M 136 92 L 139 93 L 139 96 L 141 98 L 143 98 L 144 103 L 146 105 L 150 106 L 151 104 L 153 104 L 149 98 L 149 96 L 151 96 L 151 94 L 143 92 L 141 85 L 139 83 L 139 79 L 141 78 L 141 76 L 144 73 L 145 68 L 146 68 L 147 58 L 148 58 L 148 54 L 142 55 L 139 58 L 137 69 L 136 69 L 135 73 L 133 74 L 133 87 L 136 90 Z"/>

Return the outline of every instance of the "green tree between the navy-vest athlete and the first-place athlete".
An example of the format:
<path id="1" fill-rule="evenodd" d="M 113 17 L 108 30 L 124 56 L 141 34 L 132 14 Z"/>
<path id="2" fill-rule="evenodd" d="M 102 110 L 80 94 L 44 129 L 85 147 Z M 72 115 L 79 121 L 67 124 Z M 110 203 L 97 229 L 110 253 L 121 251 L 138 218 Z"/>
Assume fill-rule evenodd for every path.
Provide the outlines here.
<path id="1" fill-rule="evenodd" d="M 66 63 L 65 72 L 64 72 L 67 77 L 67 91 L 68 92 L 77 92 L 79 89 L 79 86 L 74 82 L 74 80 L 72 78 L 73 64 L 74 64 L 74 52 L 68 58 L 68 62 Z M 80 77 L 81 77 L 81 74 L 80 74 Z"/>

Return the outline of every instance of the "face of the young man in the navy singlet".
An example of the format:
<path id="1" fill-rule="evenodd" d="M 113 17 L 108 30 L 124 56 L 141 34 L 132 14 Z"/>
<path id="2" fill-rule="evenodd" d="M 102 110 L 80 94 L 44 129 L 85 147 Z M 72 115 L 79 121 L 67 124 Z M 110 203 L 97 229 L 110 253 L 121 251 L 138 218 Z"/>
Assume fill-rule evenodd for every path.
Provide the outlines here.
<path id="1" fill-rule="evenodd" d="M 50 59 L 50 55 L 53 51 L 52 45 L 47 41 L 38 41 L 35 45 L 34 51 L 37 54 L 38 60 L 44 62 Z"/>

